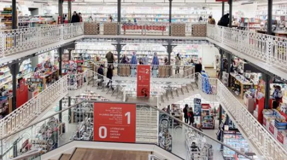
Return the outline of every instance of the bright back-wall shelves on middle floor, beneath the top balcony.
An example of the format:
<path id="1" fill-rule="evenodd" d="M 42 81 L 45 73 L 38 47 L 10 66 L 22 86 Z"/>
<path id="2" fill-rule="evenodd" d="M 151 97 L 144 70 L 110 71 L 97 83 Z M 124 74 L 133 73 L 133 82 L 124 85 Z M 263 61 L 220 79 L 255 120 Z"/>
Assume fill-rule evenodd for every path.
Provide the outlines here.
<path id="1" fill-rule="evenodd" d="M 117 59 L 119 57 L 117 51 L 115 50 L 115 47 L 112 46 L 111 44 L 78 43 L 76 45 L 75 50 L 72 50 L 71 53 L 74 59 L 83 58 L 83 60 L 95 61 L 96 57 L 105 60 L 106 54 L 109 51 L 111 51 L 114 54 L 114 57 L 116 59 L 115 62 L 117 62 Z M 123 46 L 123 49 L 120 53 L 121 54 L 120 59 L 122 58 L 122 55 L 126 55 L 128 59 L 131 60 L 133 52 L 136 52 L 138 62 L 140 61 L 140 59 L 143 59 L 144 61 L 146 61 L 145 63 L 148 64 L 152 62 L 154 52 L 157 53 L 157 58 L 160 64 L 163 64 L 164 58 L 168 57 L 166 49 L 163 46 L 142 44 L 142 45 Z M 194 63 L 198 63 L 199 52 L 200 52 L 199 45 L 177 46 L 173 49 L 173 52 L 171 53 L 171 63 L 175 62 L 175 56 L 178 53 L 182 59 L 181 60 L 182 65 L 188 65 L 191 59 L 193 59 Z"/>

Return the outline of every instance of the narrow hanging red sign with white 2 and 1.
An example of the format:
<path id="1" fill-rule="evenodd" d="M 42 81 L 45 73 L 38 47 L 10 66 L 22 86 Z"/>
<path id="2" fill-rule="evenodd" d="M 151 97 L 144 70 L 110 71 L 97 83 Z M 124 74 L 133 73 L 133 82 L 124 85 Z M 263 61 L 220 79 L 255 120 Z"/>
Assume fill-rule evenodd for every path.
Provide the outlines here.
<path id="1" fill-rule="evenodd" d="M 137 68 L 137 96 L 149 97 L 150 92 L 150 66 L 138 65 Z"/>

